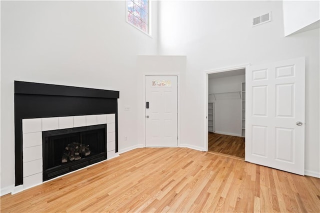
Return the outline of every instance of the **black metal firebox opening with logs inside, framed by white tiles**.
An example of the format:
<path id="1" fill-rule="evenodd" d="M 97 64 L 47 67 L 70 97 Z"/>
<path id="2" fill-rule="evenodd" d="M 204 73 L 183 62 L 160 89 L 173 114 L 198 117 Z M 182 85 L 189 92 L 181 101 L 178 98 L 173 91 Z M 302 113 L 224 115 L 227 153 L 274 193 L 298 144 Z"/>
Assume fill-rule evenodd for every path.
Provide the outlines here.
<path id="1" fill-rule="evenodd" d="M 42 131 L 43 180 L 106 159 L 106 124 Z"/>

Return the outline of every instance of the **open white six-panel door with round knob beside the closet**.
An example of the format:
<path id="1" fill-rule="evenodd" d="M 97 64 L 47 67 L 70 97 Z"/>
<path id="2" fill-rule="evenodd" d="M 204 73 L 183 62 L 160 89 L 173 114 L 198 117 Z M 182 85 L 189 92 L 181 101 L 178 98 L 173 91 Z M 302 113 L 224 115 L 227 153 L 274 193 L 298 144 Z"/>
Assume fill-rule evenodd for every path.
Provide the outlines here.
<path id="1" fill-rule="evenodd" d="M 246 69 L 245 160 L 304 175 L 304 58 Z"/>

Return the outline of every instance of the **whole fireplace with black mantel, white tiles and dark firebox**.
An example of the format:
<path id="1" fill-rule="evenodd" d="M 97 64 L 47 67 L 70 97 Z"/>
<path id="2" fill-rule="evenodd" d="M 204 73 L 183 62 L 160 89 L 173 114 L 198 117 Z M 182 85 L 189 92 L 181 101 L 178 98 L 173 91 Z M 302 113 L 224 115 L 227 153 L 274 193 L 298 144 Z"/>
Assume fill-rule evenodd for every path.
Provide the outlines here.
<path id="1" fill-rule="evenodd" d="M 16 190 L 117 156 L 117 98 L 119 91 L 14 81 Z"/>

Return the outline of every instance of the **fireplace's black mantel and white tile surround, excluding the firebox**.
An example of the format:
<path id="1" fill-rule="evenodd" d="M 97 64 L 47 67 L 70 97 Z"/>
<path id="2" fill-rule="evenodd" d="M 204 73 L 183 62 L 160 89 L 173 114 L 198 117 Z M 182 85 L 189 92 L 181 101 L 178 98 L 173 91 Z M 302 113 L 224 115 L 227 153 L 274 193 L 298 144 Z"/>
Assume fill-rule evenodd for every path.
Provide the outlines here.
<path id="1" fill-rule="evenodd" d="M 89 164 L 117 156 L 118 98 L 115 90 L 14 81 L 12 193 L 43 182 L 42 131 L 106 124 L 106 156 Z"/>

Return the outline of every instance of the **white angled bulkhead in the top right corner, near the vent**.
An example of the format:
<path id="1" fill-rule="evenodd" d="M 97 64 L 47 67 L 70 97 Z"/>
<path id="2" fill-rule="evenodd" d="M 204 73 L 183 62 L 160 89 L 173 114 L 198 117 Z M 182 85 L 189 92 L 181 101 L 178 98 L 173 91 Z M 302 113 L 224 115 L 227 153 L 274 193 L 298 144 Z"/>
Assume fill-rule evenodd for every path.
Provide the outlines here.
<path id="1" fill-rule="evenodd" d="M 319 19 L 320 2 L 318 0 L 283 0 L 283 24 L 285 36 L 312 24 Z"/>

